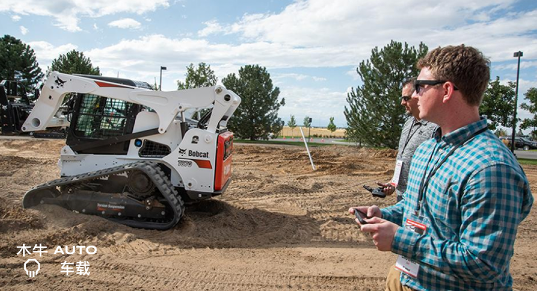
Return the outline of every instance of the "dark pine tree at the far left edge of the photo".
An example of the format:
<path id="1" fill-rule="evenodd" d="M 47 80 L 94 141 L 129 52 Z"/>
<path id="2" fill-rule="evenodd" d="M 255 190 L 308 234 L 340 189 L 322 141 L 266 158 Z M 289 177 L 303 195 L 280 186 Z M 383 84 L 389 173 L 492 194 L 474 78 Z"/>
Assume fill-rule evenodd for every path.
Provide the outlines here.
<path id="1" fill-rule="evenodd" d="M 34 50 L 11 35 L 0 39 L 0 80 L 17 80 L 30 89 L 43 78 Z"/>

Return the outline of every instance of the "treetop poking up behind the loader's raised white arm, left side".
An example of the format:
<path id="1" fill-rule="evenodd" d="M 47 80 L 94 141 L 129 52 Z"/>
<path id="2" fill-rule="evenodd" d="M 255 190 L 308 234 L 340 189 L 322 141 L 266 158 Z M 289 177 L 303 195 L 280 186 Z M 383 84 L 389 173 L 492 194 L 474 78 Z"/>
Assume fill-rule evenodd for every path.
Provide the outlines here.
<path id="1" fill-rule="evenodd" d="M 60 55 L 52 61 L 49 71 L 58 71 L 65 74 L 86 74 L 100 76 L 99 67 L 91 64 L 91 59 L 84 53 L 71 50 L 65 55 Z"/>

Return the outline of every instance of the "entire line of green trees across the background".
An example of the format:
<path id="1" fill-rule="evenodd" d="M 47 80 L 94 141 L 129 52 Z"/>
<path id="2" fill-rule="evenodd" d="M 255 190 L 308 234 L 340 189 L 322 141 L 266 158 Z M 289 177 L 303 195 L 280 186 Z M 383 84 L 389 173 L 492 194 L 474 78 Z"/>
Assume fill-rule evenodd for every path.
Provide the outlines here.
<path id="1" fill-rule="evenodd" d="M 373 48 L 371 57 L 360 62 L 356 71 L 362 84 L 347 93 L 347 106 L 343 111 L 347 139 L 368 146 L 397 147 L 402 125 L 409 117 L 401 106 L 402 82 L 418 75 L 416 63 L 428 50 L 424 43 L 411 47 L 406 42 L 391 41 L 383 48 Z M 47 70 L 100 75 L 99 67 L 93 66 L 89 57 L 76 50 L 54 59 Z M 26 87 L 35 88 L 42 78 L 34 50 L 13 36 L 4 35 L 0 39 L 0 79 L 18 80 Z M 217 81 L 211 65 L 191 63 L 186 67 L 185 80 L 177 81 L 177 88 L 214 86 Z M 224 77 L 222 84 L 242 98 L 241 106 L 228 122 L 237 137 L 255 140 L 266 139 L 271 133 L 278 136 L 285 124 L 278 117 L 278 110 L 285 106 L 285 99 L 279 99 L 280 88 L 274 86 L 265 67 L 244 65 L 237 74 Z M 502 84 L 496 77 L 484 94 L 480 114 L 487 117 L 489 128 L 497 135 L 506 133 L 500 126 L 510 128 L 513 124 L 515 87 L 515 83 Z M 537 138 L 537 88 L 530 88 L 524 95 L 527 103 L 520 107 L 534 116 L 524 120 L 517 118 L 517 122 L 521 122 L 521 129 L 533 128 L 532 135 Z M 310 126 L 309 119 L 304 118 L 304 126 Z M 332 132 L 336 130 L 333 120 L 330 117 L 327 126 Z M 296 127 L 294 115 L 287 125 L 292 129 Z"/>

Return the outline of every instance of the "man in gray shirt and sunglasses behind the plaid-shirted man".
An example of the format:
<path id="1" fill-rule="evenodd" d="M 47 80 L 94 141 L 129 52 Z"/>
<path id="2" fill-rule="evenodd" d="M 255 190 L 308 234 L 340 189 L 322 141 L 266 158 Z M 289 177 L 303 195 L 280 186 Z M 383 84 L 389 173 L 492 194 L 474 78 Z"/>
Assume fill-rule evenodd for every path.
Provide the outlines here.
<path id="1" fill-rule="evenodd" d="M 407 190 L 408 171 L 414 151 L 425 140 L 432 138 L 433 132 L 438 127 L 432 122 L 419 119 L 418 100 L 410 98 L 414 93 L 413 85 L 415 80 L 416 78 L 411 78 L 403 81 L 401 105 L 407 109 L 407 114 L 411 116 L 405 122 L 401 131 L 394 177 L 389 183 L 377 182 L 379 186 L 383 187 L 382 192 L 386 195 L 391 195 L 395 190 L 397 192 L 397 202 L 403 199 L 403 193 Z"/>

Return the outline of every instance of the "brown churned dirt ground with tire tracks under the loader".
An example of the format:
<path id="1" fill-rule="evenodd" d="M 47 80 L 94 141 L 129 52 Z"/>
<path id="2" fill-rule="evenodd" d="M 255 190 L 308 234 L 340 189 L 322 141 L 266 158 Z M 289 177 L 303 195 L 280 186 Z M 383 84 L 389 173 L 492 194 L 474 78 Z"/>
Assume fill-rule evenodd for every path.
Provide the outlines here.
<path id="1" fill-rule="evenodd" d="M 314 148 L 311 170 L 299 147 L 235 145 L 234 180 L 216 199 L 188 207 L 173 229 L 133 229 L 51 205 L 23 210 L 32 186 L 59 176 L 62 141 L 0 140 L 0 290 L 383 290 L 395 255 L 376 251 L 349 206 L 387 206 L 362 185 L 388 181 L 395 152 Z M 537 167 L 524 166 L 537 193 Z M 537 289 L 535 211 L 519 227 L 514 287 Z M 35 278 L 17 256 L 47 246 Z M 54 254 L 95 245 L 95 255 Z M 89 275 L 61 273 L 87 261 Z M 35 268 L 33 269 L 35 270 Z M 76 269 L 75 269 L 76 270 Z"/>

